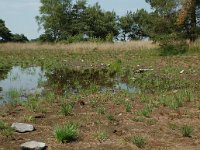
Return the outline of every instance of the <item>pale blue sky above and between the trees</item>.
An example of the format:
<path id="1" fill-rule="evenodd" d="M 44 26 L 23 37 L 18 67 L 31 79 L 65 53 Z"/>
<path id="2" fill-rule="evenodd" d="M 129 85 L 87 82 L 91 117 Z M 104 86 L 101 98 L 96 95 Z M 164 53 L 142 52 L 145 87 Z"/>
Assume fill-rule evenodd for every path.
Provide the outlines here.
<path id="1" fill-rule="evenodd" d="M 150 10 L 145 0 L 88 0 L 89 5 L 98 2 L 103 10 L 114 10 L 117 15 L 127 11 L 145 8 Z M 0 19 L 3 19 L 12 33 L 24 34 L 35 39 L 42 34 L 38 31 L 35 16 L 39 15 L 40 0 L 0 0 Z"/>

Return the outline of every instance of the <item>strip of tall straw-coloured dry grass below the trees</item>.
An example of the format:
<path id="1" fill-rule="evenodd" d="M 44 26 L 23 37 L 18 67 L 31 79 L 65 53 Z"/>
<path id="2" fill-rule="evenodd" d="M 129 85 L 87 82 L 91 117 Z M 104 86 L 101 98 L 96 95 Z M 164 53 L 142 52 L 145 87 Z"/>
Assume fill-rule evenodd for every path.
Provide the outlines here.
<path id="1" fill-rule="evenodd" d="M 157 45 L 151 41 L 130 41 L 117 43 L 72 43 L 72 44 L 41 44 L 41 43 L 2 43 L 0 51 L 13 50 L 67 50 L 71 52 L 85 52 L 92 50 L 141 50 L 156 48 Z"/>

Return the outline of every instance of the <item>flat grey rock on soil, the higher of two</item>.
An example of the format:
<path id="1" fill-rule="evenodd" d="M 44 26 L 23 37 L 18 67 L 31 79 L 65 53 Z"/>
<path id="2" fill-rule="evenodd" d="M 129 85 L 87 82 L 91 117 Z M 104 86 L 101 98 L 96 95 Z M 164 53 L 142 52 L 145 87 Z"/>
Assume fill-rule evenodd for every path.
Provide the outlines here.
<path id="1" fill-rule="evenodd" d="M 25 123 L 13 123 L 11 128 L 14 128 L 15 131 L 24 133 L 24 132 L 31 132 L 34 130 L 33 125 L 25 124 Z"/>

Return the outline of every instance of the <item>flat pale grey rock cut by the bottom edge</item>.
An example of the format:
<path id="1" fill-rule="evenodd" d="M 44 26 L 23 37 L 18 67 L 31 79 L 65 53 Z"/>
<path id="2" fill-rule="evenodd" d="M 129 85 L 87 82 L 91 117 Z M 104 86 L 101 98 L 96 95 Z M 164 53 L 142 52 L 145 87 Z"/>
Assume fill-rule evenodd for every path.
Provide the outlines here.
<path id="1" fill-rule="evenodd" d="M 46 144 L 37 141 L 29 141 L 20 145 L 22 150 L 44 150 L 46 148 Z"/>

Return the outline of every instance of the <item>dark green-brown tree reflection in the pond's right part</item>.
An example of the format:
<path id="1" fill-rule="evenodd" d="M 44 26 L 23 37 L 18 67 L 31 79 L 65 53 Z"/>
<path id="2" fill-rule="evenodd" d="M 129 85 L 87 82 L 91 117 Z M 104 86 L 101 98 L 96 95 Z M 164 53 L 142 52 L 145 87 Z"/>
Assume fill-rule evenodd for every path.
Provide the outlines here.
<path id="1" fill-rule="evenodd" d="M 86 70 L 70 70 L 55 69 L 47 72 L 48 83 L 56 85 L 60 93 L 73 92 L 78 93 L 82 89 L 97 88 L 100 92 L 124 90 L 130 93 L 139 90 L 128 83 L 127 77 L 123 76 L 123 80 L 114 71 L 108 69 L 86 69 Z M 97 87 L 94 87 L 97 86 Z"/>

